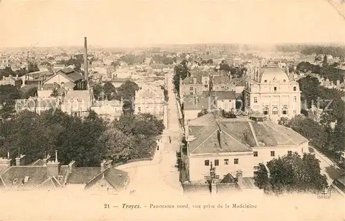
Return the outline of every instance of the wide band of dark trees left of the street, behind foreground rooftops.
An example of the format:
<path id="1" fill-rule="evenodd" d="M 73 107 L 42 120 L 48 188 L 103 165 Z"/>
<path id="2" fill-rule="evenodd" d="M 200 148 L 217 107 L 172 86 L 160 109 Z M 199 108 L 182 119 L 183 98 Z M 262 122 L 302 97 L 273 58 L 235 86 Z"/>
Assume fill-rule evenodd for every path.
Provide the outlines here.
<path id="1" fill-rule="evenodd" d="M 43 153 L 59 151 L 59 161 L 78 166 L 98 166 L 103 159 L 115 162 L 151 157 L 155 136 L 162 133 L 163 122 L 152 115 L 123 115 L 107 122 L 90 112 L 81 119 L 59 110 L 42 115 L 24 111 L 0 122 L 0 152 L 19 153 L 32 162 Z"/>

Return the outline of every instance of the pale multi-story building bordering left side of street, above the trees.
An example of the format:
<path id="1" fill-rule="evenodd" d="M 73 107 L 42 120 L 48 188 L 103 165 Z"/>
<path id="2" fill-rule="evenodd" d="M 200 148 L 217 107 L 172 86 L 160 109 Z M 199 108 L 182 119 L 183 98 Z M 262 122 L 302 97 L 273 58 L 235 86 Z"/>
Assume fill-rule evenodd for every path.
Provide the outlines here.
<path id="1" fill-rule="evenodd" d="M 150 113 L 163 119 L 164 106 L 164 90 L 161 87 L 143 87 L 135 91 L 135 114 Z"/>

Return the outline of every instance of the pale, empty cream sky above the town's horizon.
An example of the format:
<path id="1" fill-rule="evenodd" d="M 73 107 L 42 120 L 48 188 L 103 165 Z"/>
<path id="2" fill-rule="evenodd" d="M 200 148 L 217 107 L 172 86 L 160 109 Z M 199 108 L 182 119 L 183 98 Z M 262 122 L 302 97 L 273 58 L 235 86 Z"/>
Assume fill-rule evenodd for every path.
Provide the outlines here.
<path id="1" fill-rule="evenodd" d="M 2 0 L 0 47 L 344 43 L 325 0 Z"/>

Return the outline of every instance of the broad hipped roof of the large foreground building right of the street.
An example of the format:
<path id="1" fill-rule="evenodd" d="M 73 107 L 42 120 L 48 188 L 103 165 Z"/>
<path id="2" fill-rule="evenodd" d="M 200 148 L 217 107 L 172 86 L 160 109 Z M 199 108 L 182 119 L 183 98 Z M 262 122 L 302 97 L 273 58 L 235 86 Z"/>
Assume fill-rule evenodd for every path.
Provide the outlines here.
<path id="1" fill-rule="evenodd" d="M 285 126 L 269 120 L 215 119 L 208 113 L 188 122 L 190 153 L 247 152 L 253 146 L 299 145 L 308 140 Z"/>

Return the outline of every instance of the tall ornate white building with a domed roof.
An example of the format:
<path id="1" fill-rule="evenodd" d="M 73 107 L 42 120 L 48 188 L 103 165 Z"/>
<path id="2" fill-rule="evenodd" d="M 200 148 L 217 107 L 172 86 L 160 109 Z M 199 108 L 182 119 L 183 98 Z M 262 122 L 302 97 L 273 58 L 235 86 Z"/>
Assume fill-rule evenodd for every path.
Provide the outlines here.
<path id="1" fill-rule="evenodd" d="M 267 65 L 257 70 L 244 89 L 244 108 L 258 111 L 277 122 L 281 117 L 292 118 L 301 113 L 301 91 L 278 66 Z"/>

